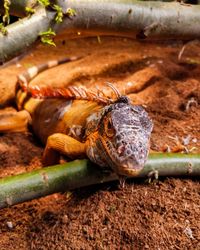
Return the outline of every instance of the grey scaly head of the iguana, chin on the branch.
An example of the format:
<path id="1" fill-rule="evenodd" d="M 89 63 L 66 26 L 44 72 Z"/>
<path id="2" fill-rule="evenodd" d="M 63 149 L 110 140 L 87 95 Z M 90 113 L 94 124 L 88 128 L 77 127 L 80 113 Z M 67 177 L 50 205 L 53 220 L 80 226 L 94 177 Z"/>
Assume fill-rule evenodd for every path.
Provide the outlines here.
<path id="1" fill-rule="evenodd" d="M 135 176 L 147 160 L 152 128 L 144 108 L 131 105 L 128 97 L 121 96 L 95 117 L 89 117 L 87 155 L 119 175 Z"/>

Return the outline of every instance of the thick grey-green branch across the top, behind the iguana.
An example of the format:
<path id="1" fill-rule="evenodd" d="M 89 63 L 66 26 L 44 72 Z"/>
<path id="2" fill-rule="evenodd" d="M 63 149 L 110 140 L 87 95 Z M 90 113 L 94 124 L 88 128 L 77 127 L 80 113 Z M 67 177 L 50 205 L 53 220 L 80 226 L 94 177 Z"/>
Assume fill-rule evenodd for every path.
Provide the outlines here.
<path id="1" fill-rule="evenodd" d="M 19 1 L 18 14 L 23 15 L 31 0 Z M 33 0 L 34 2 L 34 0 Z M 200 37 L 200 6 L 177 2 L 143 2 L 137 0 L 57 0 L 63 11 L 76 11 L 74 17 L 65 17 L 56 24 L 54 11 L 39 9 L 30 18 L 7 26 L 8 34 L 0 34 L 0 63 L 22 53 L 37 41 L 40 32 L 50 27 L 65 31 L 66 35 L 118 35 L 132 38 Z M 17 6 L 13 0 L 11 11 Z M 21 11 L 21 12 L 20 12 Z"/>

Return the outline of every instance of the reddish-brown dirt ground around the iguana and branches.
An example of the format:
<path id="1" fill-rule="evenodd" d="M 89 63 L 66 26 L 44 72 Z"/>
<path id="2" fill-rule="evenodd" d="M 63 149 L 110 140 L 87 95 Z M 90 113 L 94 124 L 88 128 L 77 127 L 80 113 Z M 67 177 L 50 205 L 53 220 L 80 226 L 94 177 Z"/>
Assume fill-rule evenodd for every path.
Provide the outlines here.
<path id="1" fill-rule="evenodd" d="M 200 151 L 200 44 L 139 43 L 125 38 L 59 39 L 40 45 L 1 70 L 0 103 L 14 98 L 16 76 L 26 68 L 64 56 L 83 59 L 42 73 L 32 84 L 106 82 L 145 105 L 154 122 L 151 147 L 177 140 Z M 31 133 L 0 135 L 0 177 L 42 166 L 43 145 Z M 0 210 L 0 249 L 200 249 L 198 178 L 108 183 L 53 194 Z M 12 228 L 9 225 L 12 223 Z"/>

